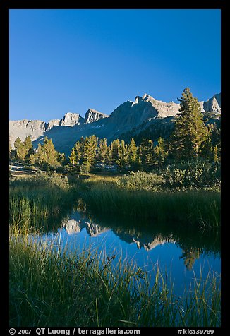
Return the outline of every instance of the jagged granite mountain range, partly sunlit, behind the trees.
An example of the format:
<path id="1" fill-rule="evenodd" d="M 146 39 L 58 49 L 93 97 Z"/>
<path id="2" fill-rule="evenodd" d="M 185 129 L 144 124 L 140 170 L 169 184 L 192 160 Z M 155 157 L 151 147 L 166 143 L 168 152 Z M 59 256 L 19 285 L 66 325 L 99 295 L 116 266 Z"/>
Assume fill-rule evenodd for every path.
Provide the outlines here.
<path id="1" fill-rule="evenodd" d="M 221 115 L 221 94 L 199 102 L 201 111 L 208 112 L 218 119 Z M 135 100 L 119 105 L 110 116 L 88 109 L 85 118 L 77 113 L 68 112 L 62 119 L 52 119 L 48 123 L 44 121 L 29 121 L 26 119 L 10 121 L 10 142 L 19 136 L 25 140 L 31 136 L 33 145 L 44 140 L 44 136 L 52 138 L 56 150 L 69 155 L 71 148 L 81 136 L 95 134 L 98 138 L 107 138 L 109 141 L 119 138 L 133 128 L 145 127 L 147 124 L 155 124 L 157 121 L 173 119 L 178 112 L 179 104 L 175 102 L 162 102 L 150 95 L 135 97 Z"/>

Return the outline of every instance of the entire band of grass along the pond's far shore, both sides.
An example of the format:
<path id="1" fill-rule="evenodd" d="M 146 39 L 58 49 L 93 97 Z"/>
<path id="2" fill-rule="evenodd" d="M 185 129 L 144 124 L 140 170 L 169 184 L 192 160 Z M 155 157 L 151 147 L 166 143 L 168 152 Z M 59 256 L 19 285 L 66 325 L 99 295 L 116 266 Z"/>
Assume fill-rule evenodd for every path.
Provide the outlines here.
<path id="1" fill-rule="evenodd" d="M 178 222 L 194 227 L 220 227 L 220 192 L 169 189 L 162 179 L 126 181 L 118 176 L 53 176 L 16 179 L 10 185 L 10 220 L 49 226 L 60 222 L 78 202 L 78 209 L 101 214 Z M 71 181 L 71 183 L 70 183 Z M 131 183 L 132 182 L 132 183 Z"/>

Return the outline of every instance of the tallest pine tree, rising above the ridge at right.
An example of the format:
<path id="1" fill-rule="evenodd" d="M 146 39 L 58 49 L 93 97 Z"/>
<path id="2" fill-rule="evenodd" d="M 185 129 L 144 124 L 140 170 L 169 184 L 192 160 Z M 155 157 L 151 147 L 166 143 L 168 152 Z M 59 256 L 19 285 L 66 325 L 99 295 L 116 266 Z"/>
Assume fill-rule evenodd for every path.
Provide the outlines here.
<path id="1" fill-rule="evenodd" d="M 180 102 L 178 119 L 171 134 L 172 153 L 177 159 L 198 157 L 201 145 L 207 137 L 200 105 L 189 88 L 183 90 L 182 97 L 178 101 Z"/>

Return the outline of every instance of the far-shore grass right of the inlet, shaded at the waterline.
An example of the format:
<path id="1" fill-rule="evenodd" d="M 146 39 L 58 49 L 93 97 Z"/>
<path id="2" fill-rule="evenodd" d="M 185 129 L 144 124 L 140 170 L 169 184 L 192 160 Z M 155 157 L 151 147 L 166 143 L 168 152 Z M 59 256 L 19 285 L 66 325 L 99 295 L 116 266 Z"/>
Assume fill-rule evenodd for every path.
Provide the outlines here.
<path id="1" fill-rule="evenodd" d="M 87 210 L 128 217 L 151 218 L 159 222 L 176 221 L 183 225 L 220 227 L 220 192 L 205 189 L 155 191 L 126 188 L 119 178 L 91 176 L 82 182 L 80 198 Z"/>

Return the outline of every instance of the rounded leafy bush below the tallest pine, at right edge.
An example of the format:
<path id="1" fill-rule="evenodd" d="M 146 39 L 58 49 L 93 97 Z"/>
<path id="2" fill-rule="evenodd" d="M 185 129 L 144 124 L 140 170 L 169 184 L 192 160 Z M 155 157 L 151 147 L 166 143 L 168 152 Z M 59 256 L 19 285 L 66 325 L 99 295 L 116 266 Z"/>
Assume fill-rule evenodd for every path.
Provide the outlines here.
<path id="1" fill-rule="evenodd" d="M 220 183 L 220 164 L 193 160 L 169 165 L 162 175 L 167 186 L 207 187 Z"/>

